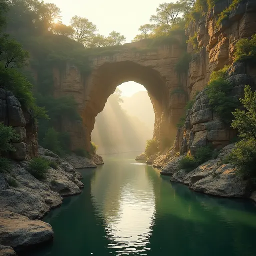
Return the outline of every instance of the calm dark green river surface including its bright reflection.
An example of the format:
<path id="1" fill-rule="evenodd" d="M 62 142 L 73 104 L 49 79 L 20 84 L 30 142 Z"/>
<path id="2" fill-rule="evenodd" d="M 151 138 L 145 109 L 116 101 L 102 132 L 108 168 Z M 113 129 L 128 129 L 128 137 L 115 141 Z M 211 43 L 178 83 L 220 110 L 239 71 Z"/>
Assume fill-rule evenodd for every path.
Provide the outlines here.
<path id="1" fill-rule="evenodd" d="M 195 193 L 134 156 L 81 170 L 82 194 L 44 218 L 54 242 L 24 255 L 256 255 L 252 202 Z"/>

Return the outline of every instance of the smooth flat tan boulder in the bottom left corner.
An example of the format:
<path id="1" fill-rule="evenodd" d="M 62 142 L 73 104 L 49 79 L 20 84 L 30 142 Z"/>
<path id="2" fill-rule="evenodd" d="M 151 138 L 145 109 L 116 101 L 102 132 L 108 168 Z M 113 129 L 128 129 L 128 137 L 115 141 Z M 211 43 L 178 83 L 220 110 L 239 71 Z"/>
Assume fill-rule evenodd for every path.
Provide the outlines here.
<path id="1" fill-rule="evenodd" d="M 51 225 L 40 220 L 30 220 L 13 212 L 0 211 L 0 223 L 0 243 L 15 250 L 53 239 Z M 16 255 L 10 247 L 0 250 L 0 255 Z"/>

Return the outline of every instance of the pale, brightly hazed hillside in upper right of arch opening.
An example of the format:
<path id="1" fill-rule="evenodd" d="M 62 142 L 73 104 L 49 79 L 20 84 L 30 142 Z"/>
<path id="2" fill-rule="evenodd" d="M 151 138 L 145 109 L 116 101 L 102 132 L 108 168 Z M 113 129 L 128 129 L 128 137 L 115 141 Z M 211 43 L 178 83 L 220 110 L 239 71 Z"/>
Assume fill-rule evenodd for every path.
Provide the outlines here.
<path id="1" fill-rule="evenodd" d="M 131 97 L 121 97 L 123 103 L 122 108 L 127 111 L 128 115 L 136 116 L 140 121 L 145 123 L 147 128 L 152 131 L 154 129 L 154 110 L 147 91 L 138 91 Z"/>

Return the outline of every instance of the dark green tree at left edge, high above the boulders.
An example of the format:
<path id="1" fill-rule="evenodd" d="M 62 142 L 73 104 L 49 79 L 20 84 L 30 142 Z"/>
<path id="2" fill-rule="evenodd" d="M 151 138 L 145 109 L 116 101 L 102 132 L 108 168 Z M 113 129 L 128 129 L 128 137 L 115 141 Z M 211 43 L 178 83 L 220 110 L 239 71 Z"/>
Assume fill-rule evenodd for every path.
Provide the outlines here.
<path id="1" fill-rule="evenodd" d="M 22 45 L 8 35 L 0 37 L 0 62 L 4 62 L 5 68 L 22 67 L 29 54 L 23 50 Z"/>

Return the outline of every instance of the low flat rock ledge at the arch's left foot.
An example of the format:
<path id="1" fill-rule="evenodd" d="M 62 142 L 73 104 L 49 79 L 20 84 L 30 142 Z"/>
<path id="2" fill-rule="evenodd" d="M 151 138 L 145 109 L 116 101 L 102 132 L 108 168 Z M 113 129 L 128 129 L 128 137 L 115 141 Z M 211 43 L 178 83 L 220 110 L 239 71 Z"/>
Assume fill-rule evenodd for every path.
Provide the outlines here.
<path id="1" fill-rule="evenodd" d="M 90 159 L 75 154 L 67 155 L 65 161 L 76 169 L 96 168 L 104 164 L 103 158 L 97 154 L 92 154 Z"/>

